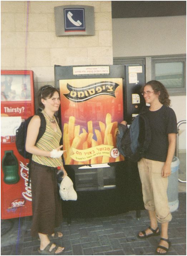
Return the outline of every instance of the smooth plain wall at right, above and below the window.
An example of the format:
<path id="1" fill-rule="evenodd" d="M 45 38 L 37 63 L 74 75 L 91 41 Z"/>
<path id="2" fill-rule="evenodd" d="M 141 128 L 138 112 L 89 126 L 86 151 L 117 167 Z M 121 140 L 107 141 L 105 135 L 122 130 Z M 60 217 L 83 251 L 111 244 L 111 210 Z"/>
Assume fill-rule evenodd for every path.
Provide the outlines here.
<path id="1" fill-rule="evenodd" d="M 186 54 L 186 16 L 112 19 L 113 57 Z M 177 121 L 186 120 L 186 96 L 172 96 Z M 186 125 L 179 149 L 186 149 Z"/>

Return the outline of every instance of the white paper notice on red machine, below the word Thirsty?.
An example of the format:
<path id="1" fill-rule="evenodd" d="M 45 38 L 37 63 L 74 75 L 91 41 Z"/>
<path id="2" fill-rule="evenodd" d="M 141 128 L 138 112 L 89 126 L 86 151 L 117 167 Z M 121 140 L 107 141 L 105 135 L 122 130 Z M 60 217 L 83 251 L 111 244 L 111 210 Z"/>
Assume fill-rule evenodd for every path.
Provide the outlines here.
<path id="1" fill-rule="evenodd" d="M 21 116 L 1 117 L 1 136 L 15 136 L 21 124 Z"/>

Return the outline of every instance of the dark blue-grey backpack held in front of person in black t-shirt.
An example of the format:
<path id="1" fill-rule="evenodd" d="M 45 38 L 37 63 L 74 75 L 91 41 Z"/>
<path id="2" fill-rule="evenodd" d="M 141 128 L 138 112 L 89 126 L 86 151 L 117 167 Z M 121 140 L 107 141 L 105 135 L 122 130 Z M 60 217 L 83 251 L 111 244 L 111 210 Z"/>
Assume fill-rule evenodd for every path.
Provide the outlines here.
<path id="1" fill-rule="evenodd" d="M 118 124 L 117 148 L 119 153 L 132 162 L 138 162 L 144 157 L 144 152 L 151 142 L 151 128 L 146 115 L 139 114 L 130 127 Z"/>

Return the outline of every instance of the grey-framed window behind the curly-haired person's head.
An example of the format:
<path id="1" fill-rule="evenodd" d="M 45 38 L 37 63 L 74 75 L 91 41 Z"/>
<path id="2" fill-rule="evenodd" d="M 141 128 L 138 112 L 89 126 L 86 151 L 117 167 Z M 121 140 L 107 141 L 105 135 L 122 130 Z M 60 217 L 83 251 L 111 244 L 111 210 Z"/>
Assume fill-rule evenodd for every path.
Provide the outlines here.
<path id="1" fill-rule="evenodd" d="M 115 57 L 114 65 L 145 65 L 146 82 L 158 80 L 169 96 L 186 95 L 186 55 Z"/>

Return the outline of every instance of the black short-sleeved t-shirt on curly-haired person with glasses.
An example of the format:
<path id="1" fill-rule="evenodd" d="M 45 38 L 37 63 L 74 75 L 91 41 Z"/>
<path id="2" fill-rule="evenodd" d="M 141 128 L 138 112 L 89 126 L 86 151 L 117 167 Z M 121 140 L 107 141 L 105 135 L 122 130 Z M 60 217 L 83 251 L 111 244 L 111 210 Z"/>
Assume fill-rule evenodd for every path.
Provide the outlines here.
<path id="1" fill-rule="evenodd" d="M 162 106 L 157 111 L 147 109 L 146 115 L 151 127 L 151 144 L 145 158 L 166 162 L 168 152 L 168 134 L 177 133 L 177 118 L 172 108 Z"/>

